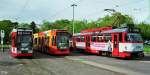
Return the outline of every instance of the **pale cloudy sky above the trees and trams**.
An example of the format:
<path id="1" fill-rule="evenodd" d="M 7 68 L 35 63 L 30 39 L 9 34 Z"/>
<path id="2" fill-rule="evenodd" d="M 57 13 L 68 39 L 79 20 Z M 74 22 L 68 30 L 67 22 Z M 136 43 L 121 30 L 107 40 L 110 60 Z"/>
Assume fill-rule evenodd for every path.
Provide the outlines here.
<path id="1" fill-rule="evenodd" d="M 96 20 L 115 9 L 135 21 L 145 21 L 150 13 L 148 0 L 0 0 L 0 20 L 42 23 L 43 20 L 72 19 L 71 4 L 76 3 L 75 19 Z"/>

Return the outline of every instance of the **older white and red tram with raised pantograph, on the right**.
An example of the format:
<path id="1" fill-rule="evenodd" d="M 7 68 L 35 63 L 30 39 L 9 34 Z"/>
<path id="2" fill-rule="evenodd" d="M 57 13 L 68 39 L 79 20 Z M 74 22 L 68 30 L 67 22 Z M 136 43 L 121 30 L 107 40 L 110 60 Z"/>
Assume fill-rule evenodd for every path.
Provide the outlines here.
<path id="1" fill-rule="evenodd" d="M 102 27 L 73 35 L 73 47 L 92 54 L 121 58 L 143 57 L 139 29 Z"/>

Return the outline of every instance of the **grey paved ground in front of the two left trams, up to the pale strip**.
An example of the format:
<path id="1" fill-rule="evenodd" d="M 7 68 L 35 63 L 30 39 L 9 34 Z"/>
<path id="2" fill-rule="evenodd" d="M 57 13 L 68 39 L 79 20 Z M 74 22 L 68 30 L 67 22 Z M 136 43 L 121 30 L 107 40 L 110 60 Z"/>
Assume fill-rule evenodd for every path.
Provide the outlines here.
<path id="1" fill-rule="evenodd" d="M 72 57 L 72 56 L 69 56 Z M 78 57 L 78 55 L 77 55 Z M 86 56 L 85 56 L 86 57 Z M 0 75 L 123 75 L 67 59 L 35 53 L 35 58 L 12 58 L 0 52 Z"/>

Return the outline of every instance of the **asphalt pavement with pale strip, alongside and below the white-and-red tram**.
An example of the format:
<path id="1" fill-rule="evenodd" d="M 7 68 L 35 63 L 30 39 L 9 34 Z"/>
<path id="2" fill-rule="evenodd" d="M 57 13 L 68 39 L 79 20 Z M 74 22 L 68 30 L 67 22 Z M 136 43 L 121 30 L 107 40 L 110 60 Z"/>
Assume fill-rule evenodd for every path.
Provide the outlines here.
<path id="1" fill-rule="evenodd" d="M 79 55 L 76 56 L 76 54 Z M 101 64 L 101 68 L 125 73 L 128 75 L 150 75 L 150 54 L 146 54 L 145 57 L 141 59 L 125 60 L 114 57 L 96 56 L 76 52 L 72 53 L 72 56 L 69 56 L 68 58 L 74 61 L 83 62 L 85 64 L 89 63 L 89 65 L 93 65 L 93 63 Z M 97 67 L 98 65 L 94 66 Z M 114 68 L 116 70 L 114 70 Z"/>

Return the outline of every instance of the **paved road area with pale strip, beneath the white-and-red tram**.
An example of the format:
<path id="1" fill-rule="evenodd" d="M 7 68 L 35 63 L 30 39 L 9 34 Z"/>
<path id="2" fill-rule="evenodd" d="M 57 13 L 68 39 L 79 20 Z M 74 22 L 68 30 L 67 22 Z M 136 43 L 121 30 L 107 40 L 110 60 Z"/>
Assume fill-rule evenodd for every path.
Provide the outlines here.
<path id="1" fill-rule="evenodd" d="M 78 54 L 78 56 L 76 56 Z M 142 59 L 134 59 L 134 60 L 123 60 L 112 57 L 104 57 L 104 56 L 93 56 L 85 53 L 73 53 L 72 59 L 79 59 L 81 61 L 90 61 L 98 64 L 109 65 L 117 67 L 119 69 L 124 69 L 127 71 L 132 71 L 134 73 L 139 73 L 143 75 L 150 75 L 150 55 L 147 54 Z M 128 73 L 128 72 L 127 72 Z M 129 73 L 128 73 L 129 74 Z"/>

